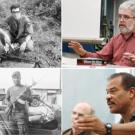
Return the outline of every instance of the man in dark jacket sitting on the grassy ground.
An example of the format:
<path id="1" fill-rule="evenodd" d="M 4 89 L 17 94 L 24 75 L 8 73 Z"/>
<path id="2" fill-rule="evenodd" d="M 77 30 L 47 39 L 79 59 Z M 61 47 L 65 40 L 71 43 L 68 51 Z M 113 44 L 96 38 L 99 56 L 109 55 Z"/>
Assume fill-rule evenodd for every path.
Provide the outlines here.
<path id="1" fill-rule="evenodd" d="M 33 50 L 32 24 L 28 17 L 21 14 L 20 5 L 14 4 L 10 7 L 11 16 L 6 19 L 6 30 L 8 31 L 12 49 L 24 52 Z M 6 39 L 5 39 L 5 42 Z M 5 49 L 9 49 L 9 44 L 5 44 Z M 7 47 L 7 48 L 6 48 Z"/>

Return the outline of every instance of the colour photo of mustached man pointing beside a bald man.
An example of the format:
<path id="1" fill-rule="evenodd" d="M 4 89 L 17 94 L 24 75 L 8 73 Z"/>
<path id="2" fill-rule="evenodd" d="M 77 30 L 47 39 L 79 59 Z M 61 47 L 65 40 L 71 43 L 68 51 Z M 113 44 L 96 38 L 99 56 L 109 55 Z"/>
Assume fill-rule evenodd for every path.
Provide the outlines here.
<path id="1" fill-rule="evenodd" d="M 62 135 L 134 135 L 134 69 L 62 69 Z"/>

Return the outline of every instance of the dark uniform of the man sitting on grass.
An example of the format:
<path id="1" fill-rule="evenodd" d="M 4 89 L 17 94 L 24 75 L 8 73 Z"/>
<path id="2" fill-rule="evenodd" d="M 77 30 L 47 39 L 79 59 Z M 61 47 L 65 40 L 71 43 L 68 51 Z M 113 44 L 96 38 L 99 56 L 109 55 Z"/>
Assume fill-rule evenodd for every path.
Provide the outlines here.
<path id="1" fill-rule="evenodd" d="M 2 25 L 3 29 L 0 30 L 0 41 L 3 46 L 5 46 L 5 43 L 11 43 L 17 45 L 17 47 L 15 48 L 20 48 L 20 46 L 25 42 L 25 49 L 33 50 L 33 27 L 27 16 L 21 15 L 21 18 L 17 20 L 11 15 L 5 20 L 5 23 Z M 7 36 L 10 41 L 5 38 Z"/>

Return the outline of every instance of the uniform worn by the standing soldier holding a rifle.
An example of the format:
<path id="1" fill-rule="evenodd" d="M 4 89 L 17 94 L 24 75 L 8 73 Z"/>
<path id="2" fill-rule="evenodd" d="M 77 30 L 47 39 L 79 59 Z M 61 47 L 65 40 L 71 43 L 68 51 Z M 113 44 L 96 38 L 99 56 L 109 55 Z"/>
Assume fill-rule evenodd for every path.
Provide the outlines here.
<path id="1" fill-rule="evenodd" d="M 6 100 L 13 103 L 15 99 L 21 94 L 21 100 L 25 101 L 25 104 L 20 104 L 18 101 L 13 103 L 13 108 L 9 116 L 9 128 L 13 135 L 27 135 L 27 122 L 28 122 L 28 109 L 27 101 L 32 101 L 31 91 L 24 85 L 10 87 L 7 91 Z M 22 91 L 24 93 L 22 94 Z"/>

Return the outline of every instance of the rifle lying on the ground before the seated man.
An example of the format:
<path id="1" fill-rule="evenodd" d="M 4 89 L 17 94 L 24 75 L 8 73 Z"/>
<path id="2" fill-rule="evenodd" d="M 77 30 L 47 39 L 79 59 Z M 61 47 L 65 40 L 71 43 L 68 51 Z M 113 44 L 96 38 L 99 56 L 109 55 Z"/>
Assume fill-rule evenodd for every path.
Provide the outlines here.
<path id="1" fill-rule="evenodd" d="M 23 61 L 23 62 L 28 62 L 28 63 L 34 63 L 34 68 L 36 68 L 36 67 L 41 67 L 41 61 L 39 61 L 38 59 L 37 59 L 37 57 L 35 57 L 34 58 L 34 60 L 33 59 L 26 59 L 26 58 L 22 58 L 22 57 L 20 57 L 20 56 L 17 56 L 17 55 L 13 55 L 13 54 L 8 54 L 8 53 L 2 53 L 2 54 L 0 54 L 0 63 L 2 63 L 2 61 L 3 60 L 17 60 L 17 61 Z"/>

